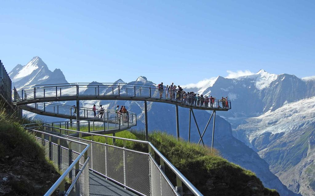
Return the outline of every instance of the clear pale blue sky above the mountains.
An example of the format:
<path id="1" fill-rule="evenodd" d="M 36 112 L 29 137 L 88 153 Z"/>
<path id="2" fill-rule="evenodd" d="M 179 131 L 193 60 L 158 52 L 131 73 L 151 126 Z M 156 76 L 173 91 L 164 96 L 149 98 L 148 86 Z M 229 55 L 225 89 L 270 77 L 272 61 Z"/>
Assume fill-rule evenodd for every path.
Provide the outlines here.
<path id="1" fill-rule="evenodd" d="M 69 82 L 315 75 L 315 1 L 1 1 L 7 70 L 39 56 Z"/>

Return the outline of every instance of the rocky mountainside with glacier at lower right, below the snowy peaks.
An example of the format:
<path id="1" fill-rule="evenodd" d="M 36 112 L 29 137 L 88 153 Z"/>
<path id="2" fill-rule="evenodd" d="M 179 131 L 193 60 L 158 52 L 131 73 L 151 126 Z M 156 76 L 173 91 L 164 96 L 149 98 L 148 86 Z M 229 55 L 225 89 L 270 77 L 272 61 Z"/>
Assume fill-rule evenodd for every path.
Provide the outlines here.
<path id="1" fill-rule="evenodd" d="M 292 191 L 315 194 L 315 97 L 284 103 L 239 125 L 233 135 L 248 143 Z"/>

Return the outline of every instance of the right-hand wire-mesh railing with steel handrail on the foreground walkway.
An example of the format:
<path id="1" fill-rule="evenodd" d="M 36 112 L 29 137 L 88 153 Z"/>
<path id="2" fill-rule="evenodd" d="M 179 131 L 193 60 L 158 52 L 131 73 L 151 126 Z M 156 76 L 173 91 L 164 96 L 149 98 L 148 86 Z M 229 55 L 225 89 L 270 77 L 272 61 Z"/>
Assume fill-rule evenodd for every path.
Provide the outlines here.
<path id="1" fill-rule="evenodd" d="M 67 121 L 60 123 L 62 124 L 61 127 L 64 127 Z M 57 123 L 54 122 L 54 124 Z M 46 123 L 43 124 L 41 128 L 43 132 L 89 144 L 91 147 L 86 152 L 87 156 L 90 157 L 88 164 L 89 170 L 138 195 L 180 196 L 183 195 L 182 184 L 186 185 L 193 195 L 202 195 L 198 189 L 148 141 L 119 138 L 92 132 L 81 132 L 61 127 L 52 126 L 52 123 Z M 94 141 L 95 137 L 103 137 L 105 142 L 96 142 Z M 112 145 L 109 144 L 110 140 L 112 140 Z M 122 147 L 116 145 L 118 140 L 122 141 Z M 141 152 L 128 149 L 126 145 L 127 141 L 139 143 L 139 145 L 147 145 L 145 148 L 148 150 Z M 77 146 L 77 148 L 78 147 L 79 146 Z M 76 148 L 72 149 L 74 149 L 74 151 L 80 150 Z M 159 160 L 159 164 L 156 160 Z M 176 179 L 173 179 L 173 181 L 176 182 L 176 186 L 174 186 L 168 176 L 166 176 L 164 172 L 166 166 L 175 174 Z"/>

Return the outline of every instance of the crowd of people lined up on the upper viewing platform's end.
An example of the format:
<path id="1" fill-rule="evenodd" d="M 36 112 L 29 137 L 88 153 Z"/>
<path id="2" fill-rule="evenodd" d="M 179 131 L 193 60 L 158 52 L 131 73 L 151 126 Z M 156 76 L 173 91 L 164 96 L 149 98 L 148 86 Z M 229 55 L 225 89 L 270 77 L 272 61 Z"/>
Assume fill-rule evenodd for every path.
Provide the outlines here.
<path id="1" fill-rule="evenodd" d="M 178 88 L 177 88 L 178 87 Z M 157 85 L 158 91 L 160 93 L 160 98 L 163 97 L 163 94 L 165 93 L 166 99 L 176 99 L 180 100 L 184 103 L 200 106 L 200 107 L 217 107 L 217 108 L 229 108 L 229 103 L 227 97 L 222 97 L 220 100 L 217 101 L 217 105 L 215 105 L 215 97 L 208 97 L 199 95 L 194 92 L 185 92 L 180 85 L 174 85 L 174 82 L 172 82 L 171 85 L 166 85 L 166 87 L 163 86 L 163 82 Z M 209 106 L 210 103 L 210 106 Z M 220 106 L 220 103 L 222 105 Z"/>

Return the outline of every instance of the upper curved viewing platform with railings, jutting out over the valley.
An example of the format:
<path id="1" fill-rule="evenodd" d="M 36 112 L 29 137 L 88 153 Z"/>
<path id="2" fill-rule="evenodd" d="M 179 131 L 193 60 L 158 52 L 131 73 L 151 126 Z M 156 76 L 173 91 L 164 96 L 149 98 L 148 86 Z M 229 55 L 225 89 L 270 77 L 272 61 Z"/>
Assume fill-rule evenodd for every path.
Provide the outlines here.
<path id="1" fill-rule="evenodd" d="M 160 90 L 154 85 L 127 84 L 127 83 L 68 83 L 35 85 L 13 89 L 12 102 L 15 105 L 24 105 L 39 102 L 55 102 L 70 100 L 126 100 L 126 101 L 152 101 L 175 104 L 184 108 L 228 111 L 231 101 L 215 99 L 213 106 L 209 103 L 192 103 L 195 97 L 183 92 L 171 91 L 166 96 L 163 88 Z M 170 94 L 172 96 L 170 96 Z M 206 99 L 201 99 L 203 102 Z"/>

